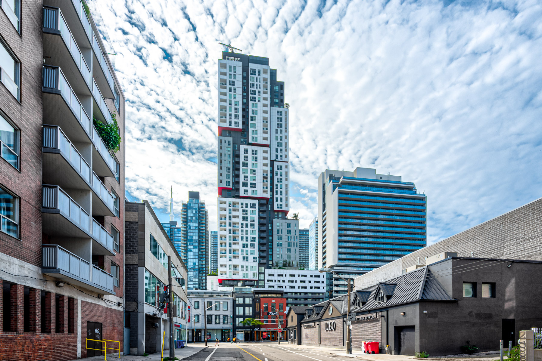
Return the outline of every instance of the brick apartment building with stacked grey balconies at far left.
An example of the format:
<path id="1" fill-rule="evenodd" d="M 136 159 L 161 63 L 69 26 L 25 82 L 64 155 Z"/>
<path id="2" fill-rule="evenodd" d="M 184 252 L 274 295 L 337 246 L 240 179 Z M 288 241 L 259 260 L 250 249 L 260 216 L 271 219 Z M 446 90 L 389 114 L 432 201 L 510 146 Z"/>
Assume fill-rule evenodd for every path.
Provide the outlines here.
<path id="1" fill-rule="evenodd" d="M 124 139 L 124 96 L 81 0 L 1 8 L 1 358 L 122 352 L 124 143 L 95 124 Z"/>

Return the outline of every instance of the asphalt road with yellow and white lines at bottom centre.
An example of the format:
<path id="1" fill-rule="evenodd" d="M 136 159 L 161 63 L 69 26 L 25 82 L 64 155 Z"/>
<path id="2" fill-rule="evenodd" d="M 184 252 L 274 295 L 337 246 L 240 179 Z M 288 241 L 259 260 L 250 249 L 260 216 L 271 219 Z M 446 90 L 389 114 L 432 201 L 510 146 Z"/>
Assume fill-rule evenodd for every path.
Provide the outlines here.
<path id="1" fill-rule="evenodd" d="M 232 345 L 221 343 L 220 346 L 210 346 L 183 361 L 338 361 L 351 360 L 350 357 L 326 355 L 324 352 L 311 349 L 300 350 L 289 347 L 288 343 L 240 343 Z"/>

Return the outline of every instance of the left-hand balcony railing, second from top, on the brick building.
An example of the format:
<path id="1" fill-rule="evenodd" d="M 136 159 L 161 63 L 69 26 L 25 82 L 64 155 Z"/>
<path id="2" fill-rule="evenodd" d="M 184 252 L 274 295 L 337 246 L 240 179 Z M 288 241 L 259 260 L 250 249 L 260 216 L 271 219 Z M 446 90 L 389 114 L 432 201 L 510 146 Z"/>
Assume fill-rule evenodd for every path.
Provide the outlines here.
<path id="1" fill-rule="evenodd" d="M 91 119 L 81 106 L 81 102 L 59 67 L 43 65 L 43 88 L 60 91 L 60 95 L 62 95 L 64 101 L 72 109 L 73 114 L 79 120 L 87 134 L 91 133 Z"/>

